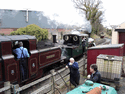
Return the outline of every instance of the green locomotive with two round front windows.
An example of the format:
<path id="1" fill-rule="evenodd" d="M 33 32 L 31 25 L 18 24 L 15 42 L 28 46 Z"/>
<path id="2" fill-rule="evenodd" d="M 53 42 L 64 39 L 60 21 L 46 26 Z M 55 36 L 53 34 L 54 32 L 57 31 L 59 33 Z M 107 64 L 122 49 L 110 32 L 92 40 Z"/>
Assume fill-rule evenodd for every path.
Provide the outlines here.
<path id="1" fill-rule="evenodd" d="M 88 49 L 88 34 L 65 34 L 63 39 L 63 50 L 68 59 L 85 54 Z"/>

